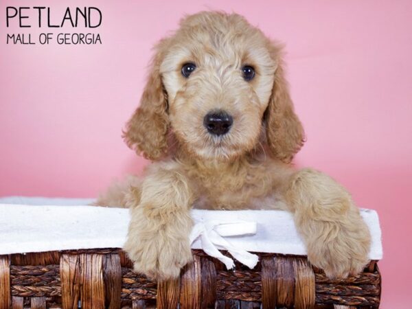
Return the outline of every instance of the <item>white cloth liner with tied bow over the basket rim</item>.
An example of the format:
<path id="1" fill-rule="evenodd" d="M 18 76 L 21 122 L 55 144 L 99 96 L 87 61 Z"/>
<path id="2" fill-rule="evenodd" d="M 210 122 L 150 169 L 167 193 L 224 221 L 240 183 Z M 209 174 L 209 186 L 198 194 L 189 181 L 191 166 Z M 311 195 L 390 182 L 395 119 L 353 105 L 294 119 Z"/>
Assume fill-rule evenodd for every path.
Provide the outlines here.
<path id="1" fill-rule="evenodd" d="M 3 201 L 0 198 L 0 254 L 115 248 L 123 247 L 126 240 L 128 209 L 76 206 L 93 201 L 90 199 L 64 199 L 60 201 L 64 205 L 47 205 L 57 201 L 47 199 L 36 199 L 37 204 L 43 205 L 27 205 L 30 204 L 27 198 L 26 205 L 10 205 Z M 8 198 L 7 203 L 13 200 Z M 67 206 L 72 203 L 75 205 Z M 361 214 L 372 236 L 369 258 L 380 260 L 382 242 L 378 214 L 370 209 L 362 209 Z M 216 249 L 227 249 L 234 258 L 242 260 L 243 257 L 243 262 L 250 266 L 254 260 L 245 251 L 306 255 L 293 218 L 286 211 L 194 209 L 192 217 L 195 222 L 192 249 L 216 253 L 214 248 L 205 247 L 206 243 L 211 243 Z M 244 231 L 240 230 L 242 235 L 231 236 L 234 232 L 230 232 L 233 228 L 230 224 L 237 225 L 238 229 L 239 222 L 244 225 Z M 229 260 L 222 262 L 231 266 Z"/>

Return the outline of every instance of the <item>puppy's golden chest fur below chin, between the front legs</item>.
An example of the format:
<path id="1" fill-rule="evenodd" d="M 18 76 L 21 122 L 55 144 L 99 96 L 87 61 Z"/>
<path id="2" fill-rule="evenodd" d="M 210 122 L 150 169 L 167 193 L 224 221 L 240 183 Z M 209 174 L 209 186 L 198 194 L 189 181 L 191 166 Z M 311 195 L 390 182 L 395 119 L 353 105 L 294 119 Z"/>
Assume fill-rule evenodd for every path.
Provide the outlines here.
<path id="1" fill-rule="evenodd" d="M 197 209 L 286 209 L 282 183 L 288 174 L 274 161 L 195 163 L 186 173 Z"/>

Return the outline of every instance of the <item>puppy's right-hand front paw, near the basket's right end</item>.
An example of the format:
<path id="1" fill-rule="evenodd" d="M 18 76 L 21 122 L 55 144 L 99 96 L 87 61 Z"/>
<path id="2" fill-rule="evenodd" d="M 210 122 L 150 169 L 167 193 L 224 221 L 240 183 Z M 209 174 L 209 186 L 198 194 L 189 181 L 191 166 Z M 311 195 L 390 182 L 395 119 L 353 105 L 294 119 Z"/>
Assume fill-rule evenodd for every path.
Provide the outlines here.
<path id="1" fill-rule="evenodd" d="M 369 262 L 369 232 L 358 231 L 354 237 L 351 233 L 339 231 L 339 228 L 335 227 L 335 230 L 331 229 L 329 233 L 334 237 L 318 239 L 308 244 L 309 262 L 322 268 L 330 279 L 361 273 Z"/>

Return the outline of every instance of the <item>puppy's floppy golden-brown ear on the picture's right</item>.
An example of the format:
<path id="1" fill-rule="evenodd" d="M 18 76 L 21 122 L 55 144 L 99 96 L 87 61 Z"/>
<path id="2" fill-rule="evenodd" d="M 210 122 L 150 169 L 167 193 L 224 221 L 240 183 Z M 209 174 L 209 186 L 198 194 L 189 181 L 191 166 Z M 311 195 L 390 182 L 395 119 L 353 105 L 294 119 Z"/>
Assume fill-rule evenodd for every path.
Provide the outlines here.
<path id="1" fill-rule="evenodd" d="M 266 109 L 266 138 L 273 155 L 289 163 L 304 144 L 304 128 L 293 110 L 288 82 L 284 76 L 281 47 L 272 45 L 271 55 L 277 62 L 277 69 Z"/>

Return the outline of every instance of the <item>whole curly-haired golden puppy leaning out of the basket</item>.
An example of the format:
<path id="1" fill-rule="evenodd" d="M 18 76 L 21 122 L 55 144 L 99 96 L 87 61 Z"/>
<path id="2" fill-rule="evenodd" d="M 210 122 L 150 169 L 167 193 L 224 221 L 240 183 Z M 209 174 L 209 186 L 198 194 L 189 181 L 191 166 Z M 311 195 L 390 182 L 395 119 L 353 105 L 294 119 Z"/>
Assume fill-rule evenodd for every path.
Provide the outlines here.
<path id="1" fill-rule="evenodd" d="M 154 161 L 127 194 L 125 249 L 135 271 L 177 277 L 190 262 L 190 209 L 284 209 L 328 277 L 362 271 L 370 236 L 350 194 L 290 161 L 304 143 L 282 47 L 238 14 L 201 12 L 155 47 L 139 108 L 124 132 Z"/>

